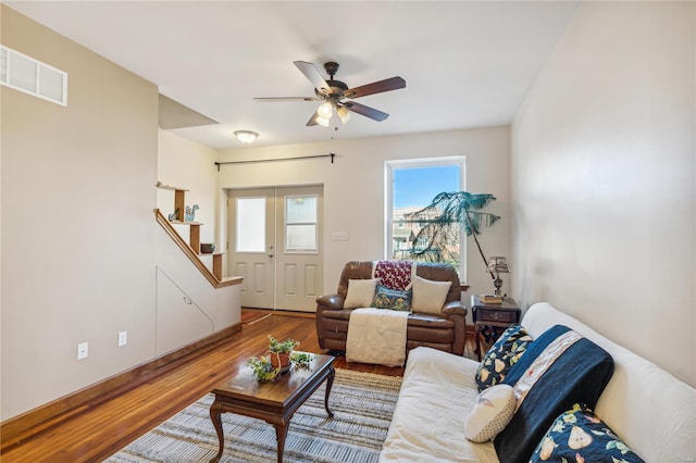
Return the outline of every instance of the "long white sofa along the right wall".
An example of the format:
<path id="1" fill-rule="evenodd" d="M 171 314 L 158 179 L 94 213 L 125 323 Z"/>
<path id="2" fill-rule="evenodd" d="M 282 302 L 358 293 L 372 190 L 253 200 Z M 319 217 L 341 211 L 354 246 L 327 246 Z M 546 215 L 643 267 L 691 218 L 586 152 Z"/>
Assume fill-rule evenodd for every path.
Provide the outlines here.
<path id="1" fill-rule="evenodd" d="M 533 338 L 566 325 L 605 349 L 614 371 L 595 408 L 597 416 L 646 462 L 696 461 L 696 389 L 548 303 L 531 306 L 522 325 Z M 493 441 L 464 438 L 464 420 L 478 393 L 477 366 L 435 349 L 412 350 L 380 461 L 505 461 Z"/>

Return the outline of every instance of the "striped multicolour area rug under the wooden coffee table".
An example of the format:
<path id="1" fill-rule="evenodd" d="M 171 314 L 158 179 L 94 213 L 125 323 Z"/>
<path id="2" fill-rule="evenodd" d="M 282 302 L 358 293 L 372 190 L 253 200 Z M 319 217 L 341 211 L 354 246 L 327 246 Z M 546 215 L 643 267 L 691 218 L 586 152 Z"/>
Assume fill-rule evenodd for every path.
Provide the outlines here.
<path id="1" fill-rule="evenodd" d="M 324 385 L 290 421 L 284 462 L 376 462 L 401 386 L 400 377 L 336 370 L 324 409 Z M 217 453 L 208 395 L 119 451 L 108 463 L 208 462 Z M 275 462 L 275 428 L 262 420 L 223 413 L 220 462 Z"/>

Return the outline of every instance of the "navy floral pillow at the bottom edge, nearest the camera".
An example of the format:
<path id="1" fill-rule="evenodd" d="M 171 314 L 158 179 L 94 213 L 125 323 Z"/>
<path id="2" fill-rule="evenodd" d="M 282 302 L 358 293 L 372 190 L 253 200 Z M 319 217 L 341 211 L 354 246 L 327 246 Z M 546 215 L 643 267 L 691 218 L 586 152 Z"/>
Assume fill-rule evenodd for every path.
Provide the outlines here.
<path id="1" fill-rule="evenodd" d="M 585 404 L 575 403 L 562 413 L 539 445 L 530 462 L 643 462 Z"/>

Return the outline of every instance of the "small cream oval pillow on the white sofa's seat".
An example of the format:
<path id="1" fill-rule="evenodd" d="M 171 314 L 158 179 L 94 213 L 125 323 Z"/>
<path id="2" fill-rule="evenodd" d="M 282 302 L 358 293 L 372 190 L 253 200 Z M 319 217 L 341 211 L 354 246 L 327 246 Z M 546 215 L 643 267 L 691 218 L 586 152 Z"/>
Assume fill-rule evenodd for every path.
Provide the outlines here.
<path id="1" fill-rule="evenodd" d="M 514 392 L 509 385 L 497 385 L 478 393 L 464 422 L 464 436 L 472 442 L 496 437 L 512 418 Z"/>

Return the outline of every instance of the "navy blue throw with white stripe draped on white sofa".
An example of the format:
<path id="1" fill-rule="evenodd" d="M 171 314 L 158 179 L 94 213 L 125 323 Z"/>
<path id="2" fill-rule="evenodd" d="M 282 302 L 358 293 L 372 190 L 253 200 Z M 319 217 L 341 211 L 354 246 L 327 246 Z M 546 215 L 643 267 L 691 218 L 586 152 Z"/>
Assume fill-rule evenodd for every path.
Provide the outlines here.
<path id="1" fill-rule="evenodd" d="M 494 440 L 498 454 L 527 462 L 558 415 L 576 402 L 595 406 L 612 372 L 611 355 L 594 342 L 567 326 L 546 330 L 504 379 L 515 389 L 517 411 Z"/>

